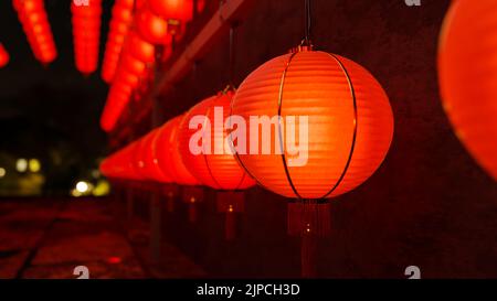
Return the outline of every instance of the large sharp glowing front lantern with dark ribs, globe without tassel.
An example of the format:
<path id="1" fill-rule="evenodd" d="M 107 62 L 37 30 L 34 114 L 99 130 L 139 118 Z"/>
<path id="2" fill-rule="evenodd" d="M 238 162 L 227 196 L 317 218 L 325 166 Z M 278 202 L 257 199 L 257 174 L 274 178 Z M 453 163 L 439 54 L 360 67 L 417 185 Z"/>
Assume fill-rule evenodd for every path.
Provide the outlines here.
<path id="1" fill-rule="evenodd" d="M 232 109 L 245 120 L 282 117 L 285 127 L 273 125 L 271 141 L 262 139 L 260 129 L 247 129 L 255 136 L 248 136 L 247 146 L 258 142 L 258 147 L 237 153 L 255 180 L 287 197 L 327 198 L 353 190 L 381 164 L 393 135 L 392 110 L 374 77 L 350 60 L 307 47 L 273 58 L 250 74 Z M 302 147 L 298 153 L 288 147 L 290 131 L 284 130 L 289 130 L 292 117 L 297 128 L 294 144 Z M 284 141 L 274 146 L 279 132 Z M 269 154 L 261 154 L 265 142 L 274 146 Z M 283 153 L 277 153 L 278 148 Z"/>

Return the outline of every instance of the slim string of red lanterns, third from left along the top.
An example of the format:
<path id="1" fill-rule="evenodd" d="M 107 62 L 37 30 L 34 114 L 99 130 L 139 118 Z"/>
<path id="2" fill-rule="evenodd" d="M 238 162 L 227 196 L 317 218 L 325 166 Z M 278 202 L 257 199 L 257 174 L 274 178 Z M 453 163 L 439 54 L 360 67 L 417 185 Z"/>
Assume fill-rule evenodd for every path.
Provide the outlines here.
<path id="1" fill-rule="evenodd" d="M 102 65 L 102 78 L 106 83 L 110 83 L 116 73 L 125 36 L 128 34 L 133 22 L 134 7 L 135 0 L 118 0 L 114 3 L 107 44 L 105 47 L 104 63 Z"/>

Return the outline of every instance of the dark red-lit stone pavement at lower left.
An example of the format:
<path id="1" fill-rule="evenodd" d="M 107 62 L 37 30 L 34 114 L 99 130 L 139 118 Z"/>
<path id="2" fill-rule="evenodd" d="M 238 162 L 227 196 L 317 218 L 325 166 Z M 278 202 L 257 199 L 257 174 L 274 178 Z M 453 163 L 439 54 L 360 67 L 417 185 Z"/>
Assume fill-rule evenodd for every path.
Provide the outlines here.
<path id="1" fill-rule="evenodd" d="M 191 278 L 201 268 L 162 244 L 160 262 L 148 257 L 145 221 L 123 228 L 107 198 L 0 200 L 0 278 Z"/>

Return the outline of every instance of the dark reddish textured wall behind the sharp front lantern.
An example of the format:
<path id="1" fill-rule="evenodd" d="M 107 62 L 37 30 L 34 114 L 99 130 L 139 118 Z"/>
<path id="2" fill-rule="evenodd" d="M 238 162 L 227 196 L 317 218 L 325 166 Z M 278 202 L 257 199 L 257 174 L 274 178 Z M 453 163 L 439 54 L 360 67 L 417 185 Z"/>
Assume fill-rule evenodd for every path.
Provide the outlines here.
<path id="1" fill-rule="evenodd" d="M 331 201 L 331 234 L 319 241 L 320 277 L 497 277 L 497 187 L 454 136 L 440 104 L 438 32 L 448 0 L 314 0 L 318 49 L 349 57 L 383 85 L 395 132 L 378 172 Z M 299 43 L 304 1 L 255 0 L 236 36 L 236 79 Z M 165 120 L 228 80 L 228 37 L 161 99 Z M 200 219 L 165 214 L 167 239 L 214 277 L 298 277 L 299 243 L 286 233 L 287 200 L 254 189 L 239 238 L 223 240 L 223 216 L 208 191 Z M 146 204 L 142 204 L 146 206 Z"/>

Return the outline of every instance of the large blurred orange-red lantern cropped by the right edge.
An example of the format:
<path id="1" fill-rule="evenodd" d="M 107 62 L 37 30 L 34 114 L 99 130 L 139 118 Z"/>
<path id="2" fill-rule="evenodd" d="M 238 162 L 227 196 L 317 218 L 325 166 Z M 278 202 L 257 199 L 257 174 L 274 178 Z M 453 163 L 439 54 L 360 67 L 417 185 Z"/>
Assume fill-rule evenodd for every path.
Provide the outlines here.
<path id="1" fill-rule="evenodd" d="M 438 49 L 442 104 L 456 136 L 497 181 L 497 1 L 453 1 Z"/>

